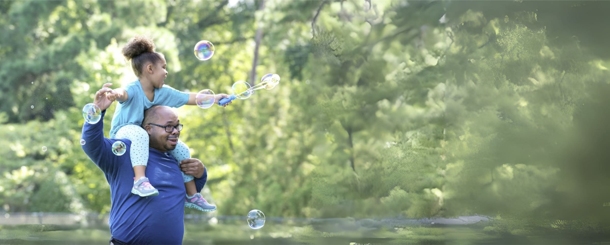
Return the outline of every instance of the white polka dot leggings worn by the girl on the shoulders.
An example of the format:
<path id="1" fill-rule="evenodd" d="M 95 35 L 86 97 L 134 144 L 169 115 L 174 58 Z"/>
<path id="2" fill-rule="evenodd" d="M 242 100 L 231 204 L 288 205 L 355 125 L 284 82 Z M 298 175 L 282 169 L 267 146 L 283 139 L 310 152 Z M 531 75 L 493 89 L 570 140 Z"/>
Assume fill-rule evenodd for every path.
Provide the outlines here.
<path id="1" fill-rule="evenodd" d="M 131 166 L 148 165 L 148 133 L 142 127 L 128 124 L 121 127 L 115 135 L 117 139 L 127 139 L 131 141 L 131 149 L 129 149 L 129 158 L 131 158 Z M 178 161 L 178 163 L 186 158 L 190 158 L 190 151 L 188 146 L 181 140 L 178 140 L 176 149 L 170 151 L 169 154 Z M 193 176 L 189 176 L 182 172 L 182 179 L 184 182 L 189 182 L 195 179 Z"/>

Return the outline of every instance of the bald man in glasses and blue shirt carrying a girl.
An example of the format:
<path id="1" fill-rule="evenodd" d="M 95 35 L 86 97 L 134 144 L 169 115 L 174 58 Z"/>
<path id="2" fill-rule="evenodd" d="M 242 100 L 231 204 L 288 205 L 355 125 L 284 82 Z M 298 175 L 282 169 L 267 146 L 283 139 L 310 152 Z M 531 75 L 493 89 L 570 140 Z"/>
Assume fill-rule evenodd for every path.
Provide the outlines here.
<path id="1" fill-rule="evenodd" d="M 110 244 L 182 244 L 186 191 L 181 170 L 195 177 L 198 192 L 206 184 L 207 170 L 195 158 L 188 158 L 178 166 L 167 153 L 175 147 L 170 141 L 180 136 L 180 122 L 171 107 L 154 106 L 146 110 L 143 126 L 167 126 L 145 127 L 150 136 L 146 175 L 155 180 L 159 196 L 146 198 L 132 194 L 131 141 L 120 140 L 126 144 L 127 152 L 119 156 L 112 153 L 112 144 L 119 140 L 104 137 L 103 118 L 106 108 L 112 104 L 105 94 L 110 91 L 107 87 L 97 91 L 93 104 L 102 110 L 102 119 L 96 124 L 85 122 L 82 129 L 82 138 L 87 142 L 82 149 L 104 172 L 110 185 Z M 209 204 L 206 202 L 206 205 Z"/>

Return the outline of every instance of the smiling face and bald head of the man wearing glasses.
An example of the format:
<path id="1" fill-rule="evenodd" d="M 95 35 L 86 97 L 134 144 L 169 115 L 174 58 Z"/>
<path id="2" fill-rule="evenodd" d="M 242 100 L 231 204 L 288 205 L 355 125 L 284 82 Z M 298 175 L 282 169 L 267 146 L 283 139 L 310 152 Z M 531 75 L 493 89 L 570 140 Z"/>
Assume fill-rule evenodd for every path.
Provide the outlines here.
<path id="1" fill-rule="evenodd" d="M 178 115 L 171 110 L 170 108 L 160 108 L 157 112 L 157 119 L 154 124 L 159 124 L 162 126 L 178 126 L 180 124 L 180 120 L 178 119 Z M 178 137 L 180 136 L 180 132 L 178 129 L 174 127 L 171 132 L 166 132 L 165 128 L 148 125 L 146 127 L 150 127 L 147 129 L 148 134 L 150 135 L 150 147 L 157 149 L 161 152 L 171 151 L 176 149 L 176 144 L 178 144 Z"/>

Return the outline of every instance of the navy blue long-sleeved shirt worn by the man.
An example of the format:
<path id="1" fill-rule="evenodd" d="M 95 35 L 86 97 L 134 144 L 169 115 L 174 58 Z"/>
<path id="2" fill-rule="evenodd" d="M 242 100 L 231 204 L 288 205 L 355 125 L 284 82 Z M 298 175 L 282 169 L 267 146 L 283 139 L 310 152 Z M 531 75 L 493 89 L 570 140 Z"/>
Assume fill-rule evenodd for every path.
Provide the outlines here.
<path id="1" fill-rule="evenodd" d="M 146 177 L 159 190 L 159 196 L 140 197 L 131 193 L 134 169 L 129 158 L 131 141 L 123 155 L 112 153 L 117 139 L 104 137 L 104 114 L 96 124 L 85 122 L 83 151 L 104 172 L 110 185 L 110 233 L 127 244 L 182 244 L 186 191 L 178 162 L 171 155 L 149 148 Z M 195 178 L 197 191 L 207 180 L 207 169 Z"/>

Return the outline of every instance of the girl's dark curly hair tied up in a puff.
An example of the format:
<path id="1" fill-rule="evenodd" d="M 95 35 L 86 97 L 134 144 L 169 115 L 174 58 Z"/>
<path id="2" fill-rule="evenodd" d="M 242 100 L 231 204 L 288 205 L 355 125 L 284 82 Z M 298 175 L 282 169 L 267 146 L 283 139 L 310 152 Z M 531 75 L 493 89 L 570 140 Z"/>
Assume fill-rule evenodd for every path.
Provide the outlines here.
<path id="1" fill-rule="evenodd" d="M 152 38 L 140 35 L 131 38 L 123 46 L 121 52 L 126 60 L 131 60 L 131 68 L 134 69 L 135 76 L 140 77 L 145 63 L 151 62 L 154 65 L 162 59 L 163 54 L 156 52 L 155 48 Z"/>

